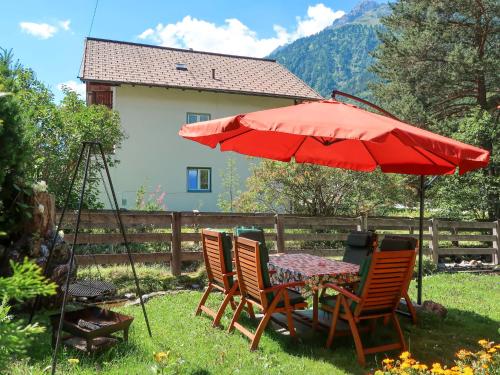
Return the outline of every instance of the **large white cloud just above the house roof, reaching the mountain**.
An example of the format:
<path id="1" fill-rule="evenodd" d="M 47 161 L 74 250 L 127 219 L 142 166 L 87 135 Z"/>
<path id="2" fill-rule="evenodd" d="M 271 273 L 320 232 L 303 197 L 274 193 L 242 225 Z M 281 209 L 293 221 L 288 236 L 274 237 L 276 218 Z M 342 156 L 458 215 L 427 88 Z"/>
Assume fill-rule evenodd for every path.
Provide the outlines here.
<path id="1" fill-rule="evenodd" d="M 306 17 L 297 17 L 295 30 L 288 32 L 284 27 L 274 25 L 274 36 L 269 38 L 259 38 L 255 31 L 236 18 L 228 18 L 224 24 L 216 25 L 191 16 L 185 16 L 177 23 L 159 23 L 137 37 L 168 47 L 262 57 L 283 44 L 321 31 L 344 14 L 321 3 L 309 6 Z"/>

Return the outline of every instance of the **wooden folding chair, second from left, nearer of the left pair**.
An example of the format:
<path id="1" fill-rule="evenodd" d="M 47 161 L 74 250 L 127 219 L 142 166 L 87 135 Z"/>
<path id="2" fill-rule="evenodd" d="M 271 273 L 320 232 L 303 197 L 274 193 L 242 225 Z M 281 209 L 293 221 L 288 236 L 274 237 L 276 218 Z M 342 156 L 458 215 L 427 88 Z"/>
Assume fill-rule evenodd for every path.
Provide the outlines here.
<path id="1" fill-rule="evenodd" d="M 290 336 L 295 337 L 292 311 L 305 309 L 307 303 L 300 293 L 288 288 L 303 286 L 304 283 L 293 282 L 271 286 L 265 261 L 266 254 L 261 252 L 257 241 L 235 237 L 234 252 L 241 301 L 236 308 L 228 331 L 231 332 L 236 328 L 251 340 L 250 350 L 255 350 L 272 314 L 284 313 L 287 316 Z M 238 323 L 238 318 L 246 303 L 256 306 L 264 314 L 255 333 Z"/>

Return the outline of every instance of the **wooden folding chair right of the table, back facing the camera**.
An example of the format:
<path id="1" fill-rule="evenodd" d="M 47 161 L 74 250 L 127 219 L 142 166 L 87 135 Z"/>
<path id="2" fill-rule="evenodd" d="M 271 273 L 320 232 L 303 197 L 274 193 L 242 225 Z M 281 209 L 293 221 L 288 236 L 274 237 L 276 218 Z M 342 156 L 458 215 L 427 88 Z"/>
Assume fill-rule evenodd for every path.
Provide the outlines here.
<path id="1" fill-rule="evenodd" d="M 334 306 L 322 306 L 333 313 L 326 342 L 328 348 L 332 345 L 338 319 L 342 319 L 349 323 L 358 362 L 363 366 L 366 364 L 366 354 L 406 350 L 403 332 L 396 317 L 396 308 L 407 287 L 411 275 L 409 270 L 413 270 L 415 255 L 413 250 L 373 253 L 368 274 L 366 278 L 361 279 L 356 294 L 339 285 L 324 285 L 325 288 L 334 289 L 339 293 Z M 392 321 L 399 339 L 395 343 L 364 348 L 359 335 L 359 324 L 365 320 L 371 321 L 372 328 L 375 329 L 376 320 L 379 318 Z"/>

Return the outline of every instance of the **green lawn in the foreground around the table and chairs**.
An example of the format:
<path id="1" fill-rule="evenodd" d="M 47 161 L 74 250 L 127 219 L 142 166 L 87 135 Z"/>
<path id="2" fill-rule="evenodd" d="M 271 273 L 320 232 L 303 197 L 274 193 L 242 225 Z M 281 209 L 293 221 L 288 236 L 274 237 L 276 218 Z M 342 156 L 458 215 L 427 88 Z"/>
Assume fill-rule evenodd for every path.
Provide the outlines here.
<path id="1" fill-rule="evenodd" d="M 414 285 L 411 292 L 415 291 Z M 412 293 L 413 294 L 413 293 Z M 152 373 L 153 352 L 170 351 L 171 367 L 165 373 L 179 374 L 364 374 L 376 367 L 383 354 L 369 356 L 367 368 L 356 363 L 350 338 L 339 338 L 334 350 L 324 348 L 323 334 L 307 334 L 294 343 L 289 337 L 267 330 L 259 350 L 250 352 L 249 342 L 239 332 L 213 329 L 207 316 L 193 317 L 200 292 L 186 291 L 153 299 L 147 304 L 153 339 L 147 335 L 140 307 L 120 310 L 136 316 L 129 344 L 106 353 L 87 356 L 64 349 L 59 356 L 60 373 L 147 374 Z M 423 315 L 418 326 L 402 318 L 403 328 L 415 358 L 427 363 L 450 363 L 459 348 L 476 348 L 480 338 L 499 341 L 500 276 L 435 274 L 424 278 L 424 299 L 443 304 L 448 316 Z M 413 296 L 414 297 L 414 296 Z M 212 302 L 218 302 L 216 297 Z M 222 323 L 227 327 L 228 311 Z M 43 320 L 46 323 L 46 320 Z M 255 328 L 250 320 L 246 326 Z M 382 332 L 383 337 L 386 332 Z M 380 338 L 379 337 L 379 338 Z M 378 340 L 378 338 L 376 339 Z M 389 353 L 394 355 L 396 353 Z M 42 334 L 30 350 L 29 361 L 17 362 L 10 374 L 38 374 L 50 364 L 50 336 Z M 79 358 L 71 366 L 68 358 Z"/>

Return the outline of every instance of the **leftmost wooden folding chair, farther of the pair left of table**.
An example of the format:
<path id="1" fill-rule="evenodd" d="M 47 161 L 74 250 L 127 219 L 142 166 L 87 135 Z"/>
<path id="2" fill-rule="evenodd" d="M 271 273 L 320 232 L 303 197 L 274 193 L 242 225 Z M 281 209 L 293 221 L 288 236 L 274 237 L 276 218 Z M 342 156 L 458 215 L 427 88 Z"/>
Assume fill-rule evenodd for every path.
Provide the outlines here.
<path id="1" fill-rule="evenodd" d="M 227 305 L 230 304 L 233 310 L 236 308 L 234 297 L 240 294 L 238 281 L 234 278 L 236 272 L 233 272 L 232 242 L 231 237 L 227 233 L 210 229 L 202 230 L 201 239 L 205 268 L 207 270 L 208 286 L 196 308 L 195 315 L 199 315 L 204 311 L 214 318 L 212 325 L 217 327 L 220 324 L 220 320 L 222 315 L 224 315 Z M 225 295 L 217 312 L 205 305 L 210 293 L 214 290 L 219 290 Z M 255 318 L 252 305 L 248 304 L 247 308 L 249 315 Z"/>

